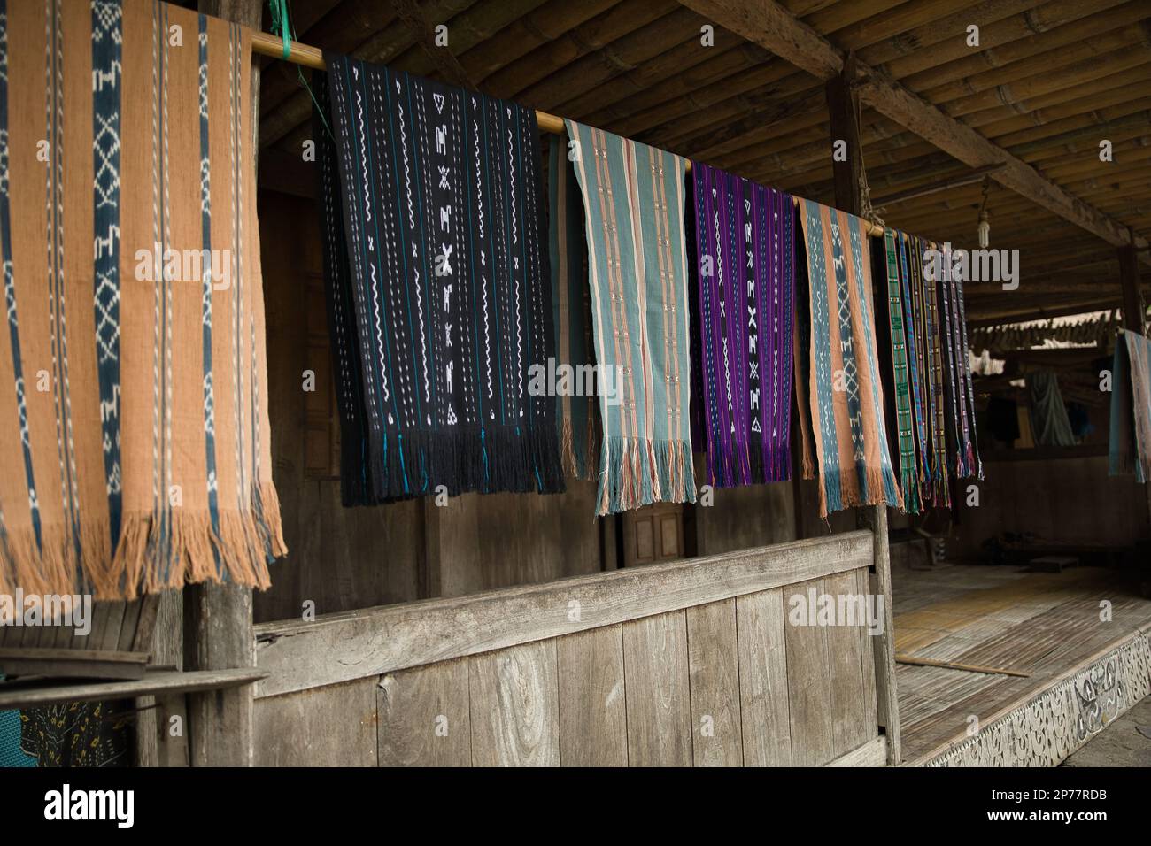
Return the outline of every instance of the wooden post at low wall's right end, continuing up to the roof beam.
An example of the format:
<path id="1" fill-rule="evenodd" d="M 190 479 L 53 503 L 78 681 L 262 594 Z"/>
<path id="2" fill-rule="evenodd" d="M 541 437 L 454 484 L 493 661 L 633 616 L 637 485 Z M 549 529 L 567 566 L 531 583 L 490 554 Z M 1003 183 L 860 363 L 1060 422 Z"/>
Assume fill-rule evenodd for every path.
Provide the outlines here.
<path id="1" fill-rule="evenodd" d="M 828 79 L 828 112 L 831 117 L 831 140 L 844 142 L 846 159 L 832 158 L 836 184 L 836 205 L 845 212 L 863 211 L 863 144 L 860 140 L 859 94 L 855 78 L 855 56 L 848 53 L 840 73 Z M 859 523 L 871 529 L 874 538 L 875 573 L 871 590 L 883 597 L 883 633 L 871 638 L 875 649 L 875 688 L 879 725 L 887 736 L 887 763 L 899 764 L 899 702 L 895 698 L 895 633 L 892 631 L 891 555 L 887 548 L 887 506 L 869 505 L 857 512 Z"/>

